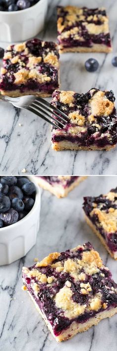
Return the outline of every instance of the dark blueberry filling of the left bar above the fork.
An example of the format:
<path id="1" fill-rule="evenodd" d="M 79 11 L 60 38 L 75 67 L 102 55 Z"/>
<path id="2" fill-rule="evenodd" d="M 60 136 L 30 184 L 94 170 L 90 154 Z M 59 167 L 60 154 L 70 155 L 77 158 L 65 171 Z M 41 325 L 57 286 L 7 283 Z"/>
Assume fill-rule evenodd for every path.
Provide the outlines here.
<path id="1" fill-rule="evenodd" d="M 21 52 L 16 52 L 15 46 L 11 45 L 11 59 L 18 56 L 18 61 L 16 63 L 12 63 L 11 59 L 3 60 L 3 67 L 6 70 L 5 73 L 2 74 L 2 79 L 0 82 L 1 90 L 20 90 L 21 93 L 24 93 L 26 90 L 38 90 L 45 91 L 49 94 L 52 94 L 53 91 L 58 88 L 58 69 L 55 66 L 52 66 L 49 63 L 45 63 L 45 56 L 48 55 L 49 50 L 52 54 L 55 54 L 58 57 L 58 50 L 56 44 L 53 42 L 45 42 L 44 46 L 42 46 L 42 41 L 39 39 L 32 39 L 26 42 L 26 49 L 28 49 L 28 54 L 25 53 L 25 50 L 22 49 Z M 5 53 L 9 53 L 8 50 Z M 20 70 L 24 69 L 30 71 L 29 58 L 30 54 L 34 57 L 41 57 L 41 62 L 38 64 L 34 64 L 32 68 L 37 70 L 37 73 L 47 75 L 50 77 L 50 80 L 42 80 L 39 82 L 38 78 L 28 78 L 26 82 L 15 83 L 15 73 L 20 72 Z M 10 74 L 9 74 L 10 73 Z"/>

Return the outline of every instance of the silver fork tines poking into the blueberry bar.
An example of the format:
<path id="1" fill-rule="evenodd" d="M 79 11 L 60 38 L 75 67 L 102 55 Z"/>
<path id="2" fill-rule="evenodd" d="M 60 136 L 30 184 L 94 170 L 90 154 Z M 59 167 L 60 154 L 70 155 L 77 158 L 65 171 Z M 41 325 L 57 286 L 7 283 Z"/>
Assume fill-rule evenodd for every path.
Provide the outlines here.
<path id="1" fill-rule="evenodd" d="M 41 97 L 36 97 L 28 106 L 28 110 L 36 113 L 39 117 L 51 123 L 55 128 L 62 129 L 68 122 L 68 117 L 63 112 Z"/>

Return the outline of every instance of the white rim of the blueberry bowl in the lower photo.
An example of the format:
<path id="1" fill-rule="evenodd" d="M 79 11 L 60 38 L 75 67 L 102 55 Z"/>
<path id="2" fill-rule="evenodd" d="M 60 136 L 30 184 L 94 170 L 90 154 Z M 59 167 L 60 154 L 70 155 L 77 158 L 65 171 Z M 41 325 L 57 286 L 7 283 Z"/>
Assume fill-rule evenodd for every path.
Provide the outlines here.
<path id="1" fill-rule="evenodd" d="M 30 179 L 31 175 L 29 176 L 26 176 Z M 35 211 L 35 208 L 37 207 L 37 205 L 39 205 L 39 202 L 41 201 L 41 192 L 40 192 L 40 188 L 38 186 L 38 184 L 32 180 L 32 182 L 35 184 L 36 186 L 36 196 L 35 196 L 35 202 L 34 202 L 34 205 L 31 209 L 31 211 L 29 211 L 25 217 L 23 217 L 22 219 L 18 220 L 16 223 L 13 223 L 13 224 L 10 224 L 10 225 L 7 225 L 6 227 L 3 227 L 3 228 L 0 228 L 2 231 L 6 231 L 8 230 L 8 228 L 16 228 L 17 225 L 19 225 L 20 223 L 23 223 L 34 211 Z"/>

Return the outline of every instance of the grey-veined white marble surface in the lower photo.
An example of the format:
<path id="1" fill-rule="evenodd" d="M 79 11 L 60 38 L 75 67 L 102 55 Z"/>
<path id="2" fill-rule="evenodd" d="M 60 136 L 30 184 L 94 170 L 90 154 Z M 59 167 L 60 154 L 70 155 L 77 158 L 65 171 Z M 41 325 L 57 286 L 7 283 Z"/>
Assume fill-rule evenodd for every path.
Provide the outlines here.
<path id="1" fill-rule="evenodd" d="M 117 262 L 85 223 L 83 196 L 97 196 L 117 186 L 117 177 L 89 177 L 65 199 L 42 191 L 41 224 L 36 245 L 21 260 L 0 267 L 0 351 L 116 351 L 117 315 L 87 332 L 58 344 L 27 292 L 21 290 L 22 266 L 31 266 L 50 252 L 91 241 L 117 281 Z M 12 299 L 11 299 L 12 298 Z"/>

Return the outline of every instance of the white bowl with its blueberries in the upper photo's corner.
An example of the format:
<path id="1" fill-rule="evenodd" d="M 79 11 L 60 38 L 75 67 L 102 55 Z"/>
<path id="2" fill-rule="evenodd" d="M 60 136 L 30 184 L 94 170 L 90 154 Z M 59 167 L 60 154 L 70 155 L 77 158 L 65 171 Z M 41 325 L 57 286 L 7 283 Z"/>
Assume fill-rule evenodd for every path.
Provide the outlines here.
<path id="1" fill-rule="evenodd" d="M 35 37 L 43 28 L 48 0 L 0 0 L 0 41 Z"/>

